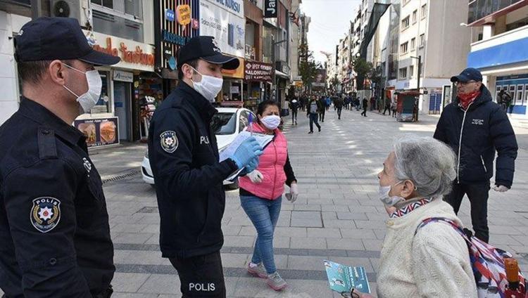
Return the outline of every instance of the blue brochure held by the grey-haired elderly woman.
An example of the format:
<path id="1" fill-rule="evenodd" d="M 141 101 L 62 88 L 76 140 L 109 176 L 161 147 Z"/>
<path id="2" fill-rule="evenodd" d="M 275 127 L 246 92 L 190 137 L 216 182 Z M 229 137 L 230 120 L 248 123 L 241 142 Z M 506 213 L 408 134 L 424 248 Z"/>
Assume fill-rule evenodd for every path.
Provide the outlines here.
<path id="1" fill-rule="evenodd" d="M 350 293 L 354 287 L 360 292 L 370 294 L 365 267 L 344 266 L 327 260 L 323 262 L 327 270 L 330 289 L 339 293 Z"/>

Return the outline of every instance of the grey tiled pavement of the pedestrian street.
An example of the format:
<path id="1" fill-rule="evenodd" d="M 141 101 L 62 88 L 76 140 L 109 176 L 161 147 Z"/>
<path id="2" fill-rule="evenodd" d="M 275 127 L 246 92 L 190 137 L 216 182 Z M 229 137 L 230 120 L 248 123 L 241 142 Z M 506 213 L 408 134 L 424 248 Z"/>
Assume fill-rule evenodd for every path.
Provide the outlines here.
<path id="1" fill-rule="evenodd" d="M 298 126 L 285 128 L 289 154 L 296 173 L 299 196 L 295 204 L 284 200 L 275 232 L 277 268 L 289 283 L 274 292 L 245 268 L 251 259 L 255 229 L 240 207 L 236 190 L 227 192 L 222 220 L 228 297 L 341 297 L 329 290 L 323 259 L 365 266 L 375 292 L 379 250 L 387 219 L 377 199 L 377 172 L 400 134 L 431 136 L 437 118 L 421 116 L 420 123 L 398 123 L 389 116 L 344 110 L 337 120 L 333 109 L 322 123 L 322 132 L 308 135 L 308 119 L 299 113 Z M 287 121 L 287 123 L 289 123 Z M 528 131 L 518 135 L 528 140 Z M 521 142 L 520 142 L 521 143 Z M 144 144 L 125 145 L 92 153 L 94 164 L 106 178 L 126 176 L 137 169 Z M 513 189 L 490 192 L 491 243 L 528 256 L 527 146 L 520 150 Z M 115 243 L 117 273 L 113 297 L 180 297 L 180 283 L 158 249 L 159 216 L 156 196 L 140 174 L 104 185 Z M 469 204 L 460 217 L 470 224 Z M 528 270 L 528 257 L 522 259 Z"/>

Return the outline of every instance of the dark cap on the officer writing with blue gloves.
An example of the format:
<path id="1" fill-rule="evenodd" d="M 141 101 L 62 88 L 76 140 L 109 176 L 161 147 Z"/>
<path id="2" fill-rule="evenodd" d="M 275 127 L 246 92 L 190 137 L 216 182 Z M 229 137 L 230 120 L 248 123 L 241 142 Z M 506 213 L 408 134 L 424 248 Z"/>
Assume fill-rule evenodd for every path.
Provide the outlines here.
<path id="1" fill-rule="evenodd" d="M 202 59 L 208 63 L 222 64 L 225 70 L 236 70 L 240 61 L 237 57 L 222 54 L 214 37 L 193 37 L 180 48 L 178 64 L 183 65 L 191 60 Z"/>

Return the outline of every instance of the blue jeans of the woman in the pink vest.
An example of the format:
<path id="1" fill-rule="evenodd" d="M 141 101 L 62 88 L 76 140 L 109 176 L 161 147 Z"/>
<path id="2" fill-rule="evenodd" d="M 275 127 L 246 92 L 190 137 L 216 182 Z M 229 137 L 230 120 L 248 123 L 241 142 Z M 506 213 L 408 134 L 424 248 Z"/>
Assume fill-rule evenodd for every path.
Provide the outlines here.
<path id="1" fill-rule="evenodd" d="M 273 231 L 279 220 L 281 203 L 282 195 L 276 200 L 240 196 L 240 204 L 257 230 L 257 240 L 251 262 L 258 264 L 262 261 L 268 274 L 277 271 L 273 257 Z"/>

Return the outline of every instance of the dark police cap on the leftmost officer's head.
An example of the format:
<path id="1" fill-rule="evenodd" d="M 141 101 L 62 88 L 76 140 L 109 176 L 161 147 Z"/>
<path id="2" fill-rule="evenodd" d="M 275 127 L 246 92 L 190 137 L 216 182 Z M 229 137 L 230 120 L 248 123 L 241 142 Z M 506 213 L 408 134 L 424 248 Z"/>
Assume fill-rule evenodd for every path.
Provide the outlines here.
<path id="1" fill-rule="evenodd" d="M 18 62 L 77 59 L 93 65 L 113 65 L 121 60 L 94 50 L 77 19 L 49 17 L 23 25 L 15 36 L 15 59 Z"/>

